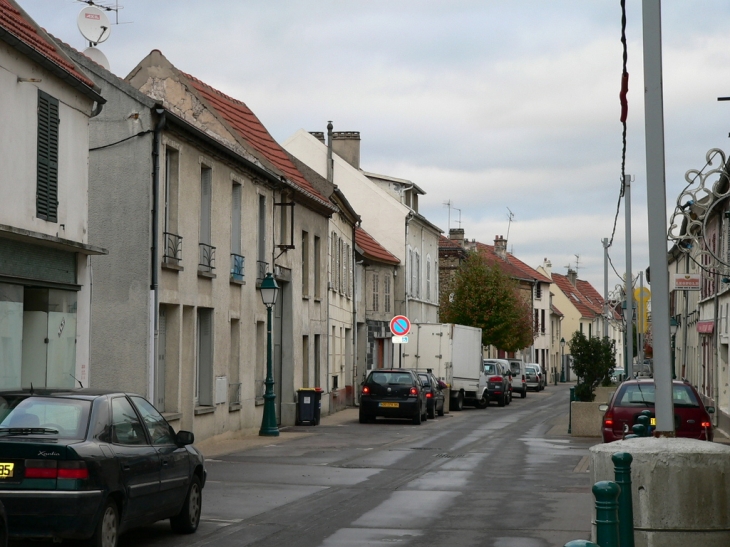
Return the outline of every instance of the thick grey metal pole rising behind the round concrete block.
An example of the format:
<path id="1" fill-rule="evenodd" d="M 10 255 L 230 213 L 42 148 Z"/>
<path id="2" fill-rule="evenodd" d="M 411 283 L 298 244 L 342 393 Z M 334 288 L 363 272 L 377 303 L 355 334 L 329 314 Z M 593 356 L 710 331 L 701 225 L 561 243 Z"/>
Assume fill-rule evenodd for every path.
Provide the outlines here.
<path id="1" fill-rule="evenodd" d="M 667 268 L 667 192 L 664 172 L 661 0 L 643 0 L 644 116 L 646 125 L 646 201 L 652 286 L 652 336 L 656 385 L 656 431 L 674 436 L 672 370 L 669 358 L 669 270 Z"/>

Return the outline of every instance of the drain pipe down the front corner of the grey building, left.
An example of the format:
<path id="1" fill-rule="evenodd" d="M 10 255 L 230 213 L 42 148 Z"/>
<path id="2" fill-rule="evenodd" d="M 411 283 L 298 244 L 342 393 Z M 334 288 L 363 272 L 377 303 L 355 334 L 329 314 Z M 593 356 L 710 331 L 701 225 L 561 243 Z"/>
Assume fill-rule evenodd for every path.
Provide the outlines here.
<path id="1" fill-rule="evenodd" d="M 150 359 L 150 393 L 149 396 L 155 402 L 155 406 L 164 411 L 164 405 L 161 405 L 159 393 L 157 393 L 157 355 L 159 343 L 159 321 L 160 321 L 160 293 L 159 293 L 159 274 L 158 274 L 158 255 L 159 255 L 159 223 L 160 223 L 160 136 L 165 128 L 165 110 L 161 105 L 155 107 L 155 113 L 159 116 L 157 126 L 155 126 L 154 138 L 152 140 L 152 317 L 153 317 L 153 342 L 152 342 L 152 358 Z M 164 397 L 164 394 L 163 394 Z M 164 401 L 164 398 L 162 399 Z"/>

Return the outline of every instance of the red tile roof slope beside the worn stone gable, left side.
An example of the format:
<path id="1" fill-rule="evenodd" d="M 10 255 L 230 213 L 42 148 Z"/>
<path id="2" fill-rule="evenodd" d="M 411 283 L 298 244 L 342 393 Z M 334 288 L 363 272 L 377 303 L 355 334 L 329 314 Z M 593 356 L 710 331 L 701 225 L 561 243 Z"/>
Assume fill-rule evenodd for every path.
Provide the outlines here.
<path id="1" fill-rule="evenodd" d="M 2 0 L 0 0 L 2 1 Z M 222 117 L 235 129 L 243 139 L 248 142 L 254 150 L 279 169 L 289 180 L 297 184 L 303 190 L 319 198 L 328 201 L 304 178 L 292 163 L 284 149 L 277 143 L 271 134 L 266 130 L 264 124 L 256 117 L 251 109 L 243 102 L 229 97 L 182 72 L 190 80 L 196 91 L 210 104 Z"/>

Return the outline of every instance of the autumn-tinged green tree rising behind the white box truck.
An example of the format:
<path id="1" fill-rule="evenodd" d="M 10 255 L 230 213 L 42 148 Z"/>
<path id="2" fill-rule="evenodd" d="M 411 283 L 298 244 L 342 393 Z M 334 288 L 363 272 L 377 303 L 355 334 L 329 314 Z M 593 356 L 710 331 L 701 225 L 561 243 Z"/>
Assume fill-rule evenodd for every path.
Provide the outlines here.
<path id="1" fill-rule="evenodd" d="M 532 308 L 517 282 L 476 251 L 468 254 L 444 291 L 441 318 L 482 329 L 482 344 L 517 351 L 532 344 Z"/>

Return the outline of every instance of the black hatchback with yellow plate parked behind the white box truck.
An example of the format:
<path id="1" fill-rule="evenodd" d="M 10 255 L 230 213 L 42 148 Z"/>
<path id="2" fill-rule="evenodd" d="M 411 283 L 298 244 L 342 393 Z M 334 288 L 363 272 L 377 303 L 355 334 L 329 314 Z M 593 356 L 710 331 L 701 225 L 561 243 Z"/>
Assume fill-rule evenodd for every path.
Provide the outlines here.
<path id="1" fill-rule="evenodd" d="M 408 369 L 377 369 L 368 374 L 360 393 L 360 423 L 377 416 L 426 421 L 426 390 L 418 375 Z"/>

